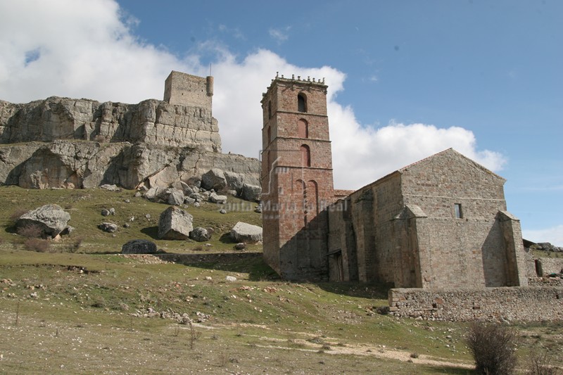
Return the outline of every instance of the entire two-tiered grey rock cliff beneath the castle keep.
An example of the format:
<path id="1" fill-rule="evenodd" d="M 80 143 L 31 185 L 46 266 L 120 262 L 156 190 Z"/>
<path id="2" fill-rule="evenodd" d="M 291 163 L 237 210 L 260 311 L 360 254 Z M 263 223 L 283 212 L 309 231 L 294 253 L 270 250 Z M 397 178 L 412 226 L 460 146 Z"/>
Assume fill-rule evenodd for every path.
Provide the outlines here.
<path id="1" fill-rule="evenodd" d="M 246 184 L 259 185 L 257 159 L 221 153 L 210 108 L 156 99 L 0 101 L 0 184 L 167 187 L 199 179 L 212 168 L 243 174 Z"/>

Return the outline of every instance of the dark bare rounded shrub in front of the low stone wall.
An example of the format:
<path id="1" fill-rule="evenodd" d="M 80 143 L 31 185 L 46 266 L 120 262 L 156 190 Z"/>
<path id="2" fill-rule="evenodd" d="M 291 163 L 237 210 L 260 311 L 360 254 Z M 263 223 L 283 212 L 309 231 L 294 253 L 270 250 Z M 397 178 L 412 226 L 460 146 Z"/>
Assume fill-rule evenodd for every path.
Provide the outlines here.
<path id="1" fill-rule="evenodd" d="M 475 360 L 476 372 L 487 375 L 514 374 L 514 331 L 500 324 L 474 322 L 469 325 L 467 346 Z"/>

